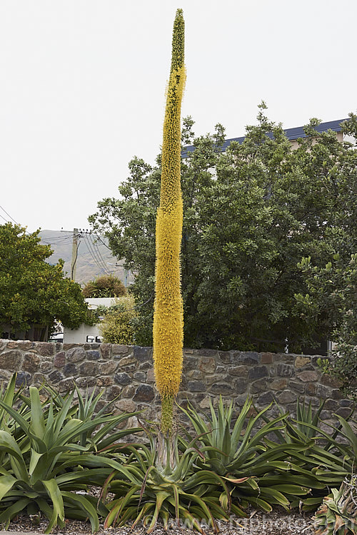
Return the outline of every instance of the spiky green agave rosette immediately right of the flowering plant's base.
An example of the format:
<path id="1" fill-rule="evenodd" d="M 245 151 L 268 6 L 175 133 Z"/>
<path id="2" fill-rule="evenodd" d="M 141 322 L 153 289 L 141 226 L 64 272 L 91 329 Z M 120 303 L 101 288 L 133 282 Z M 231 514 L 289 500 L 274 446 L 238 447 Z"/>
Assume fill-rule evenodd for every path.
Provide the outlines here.
<path id="1" fill-rule="evenodd" d="M 251 504 L 263 511 L 271 511 L 274 505 L 290 509 L 290 502 L 296 496 L 306 496 L 311 486 L 316 486 L 313 477 L 291 475 L 291 456 L 306 450 L 303 442 L 266 444 L 265 438 L 271 432 L 285 428 L 286 414 L 268 420 L 259 425 L 263 415 L 271 407 L 251 414 L 253 406 L 247 399 L 233 424 L 233 404 L 223 406 L 220 399 L 217 414 L 211 404 L 211 419 L 198 414 L 188 406 L 188 416 L 201 442 L 199 451 L 204 459 L 198 459 L 201 469 L 213 469 L 216 474 L 233 478 L 253 477 L 239 485 L 231 492 L 232 496 L 243 506 Z M 321 489 L 323 484 L 317 484 Z"/>

